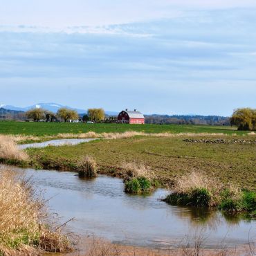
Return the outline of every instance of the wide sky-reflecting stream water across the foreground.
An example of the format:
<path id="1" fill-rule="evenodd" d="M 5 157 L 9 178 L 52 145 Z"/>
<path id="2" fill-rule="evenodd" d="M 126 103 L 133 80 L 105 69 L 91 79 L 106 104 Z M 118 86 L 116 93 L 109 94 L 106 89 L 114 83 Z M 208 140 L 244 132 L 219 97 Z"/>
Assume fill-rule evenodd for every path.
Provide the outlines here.
<path id="1" fill-rule="evenodd" d="M 234 246 L 246 244 L 248 232 L 256 230 L 256 221 L 225 219 L 219 211 L 167 205 L 158 200 L 167 194 L 162 189 L 136 196 L 123 192 L 121 179 L 108 176 L 79 179 L 72 172 L 34 170 L 27 174 L 46 190 L 51 211 L 59 213 L 62 222 L 75 217 L 68 228 L 81 235 L 93 233 L 128 244 L 165 246 L 203 228 L 207 246 L 220 244 L 224 237 Z"/>

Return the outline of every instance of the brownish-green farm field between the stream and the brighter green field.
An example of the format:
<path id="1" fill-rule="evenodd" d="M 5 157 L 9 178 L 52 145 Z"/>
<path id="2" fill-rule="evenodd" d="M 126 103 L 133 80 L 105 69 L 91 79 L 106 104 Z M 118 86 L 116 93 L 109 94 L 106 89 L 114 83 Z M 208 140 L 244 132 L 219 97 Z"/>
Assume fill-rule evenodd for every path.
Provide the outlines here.
<path id="1" fill-rule="evenodd" d="M 72 147 L 27 149 L 27 152 L 35 166 L 50 170 L 75 171 L 77 160 L 89 155 L 95 158 L 101 173 L 112 176 L 122 176 L 122 163 L 135 161 L 152 167 L 164 186 L 172 185 L 174 179 L 196 170 L 213 175 L 223 183 L 231 182 L 240 188 L 255 190 L 255 144 L 190 143 L 185 142 L 185 138 L 190 136 L 136 136 L 95 140 Z M 236 138 L 244 139 L 244 136 Z M 246 136 L 246 140 L 254 139 L 254 136 Z"/>

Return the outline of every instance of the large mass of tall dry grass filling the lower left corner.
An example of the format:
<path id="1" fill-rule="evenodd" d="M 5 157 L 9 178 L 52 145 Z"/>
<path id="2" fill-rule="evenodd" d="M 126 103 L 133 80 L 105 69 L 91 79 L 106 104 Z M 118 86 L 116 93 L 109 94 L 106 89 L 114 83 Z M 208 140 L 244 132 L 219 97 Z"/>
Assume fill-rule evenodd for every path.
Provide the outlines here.
<path id="1" fill-rule="evenodd" d="M 0 169 L 0 255 L 39 255 L 71 250 L 60 230 L 46 226 L 46 203 L 24 175 Z M 51 241 L 51 243 L 49 243 Z"/>

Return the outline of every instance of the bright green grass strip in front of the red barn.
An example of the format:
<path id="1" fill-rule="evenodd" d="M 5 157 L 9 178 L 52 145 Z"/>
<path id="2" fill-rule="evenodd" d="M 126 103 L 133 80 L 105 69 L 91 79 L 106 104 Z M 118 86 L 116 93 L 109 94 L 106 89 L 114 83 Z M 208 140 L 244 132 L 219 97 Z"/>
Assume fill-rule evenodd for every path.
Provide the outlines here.
<path id="1" fill-rule="evenodd" d="M 124 132 L 144 131 L 146 133 L 223 133 L 247 134 L 247 131 L 237 131 L 235 127 L 210 125 L 124 125 L 124 124 L 84 124 L 64 122 L 0 122 L 0 134 L 24 134 L 34 136 L 54 136 L 57 134 L 79 134 L 88 131 Z"/>

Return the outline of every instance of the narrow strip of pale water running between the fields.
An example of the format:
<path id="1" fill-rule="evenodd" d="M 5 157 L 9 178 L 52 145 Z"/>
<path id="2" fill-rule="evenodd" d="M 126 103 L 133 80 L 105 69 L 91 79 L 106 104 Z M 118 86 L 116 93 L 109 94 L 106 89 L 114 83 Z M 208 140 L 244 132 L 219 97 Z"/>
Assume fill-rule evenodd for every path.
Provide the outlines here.
<path id="1" fill-rule="evenodd" d="M 97 140 L 96 138 L 68 138 L 60 140 L 48 140 L 43 143 L 30 143 L 19 145 L 19 149 L 27 149 L 29 147 L 47 147 L 47 146 L 63 146 L 63 145 L 77 145 L 80 143 L 88 143 L 91 140 Z"/>

